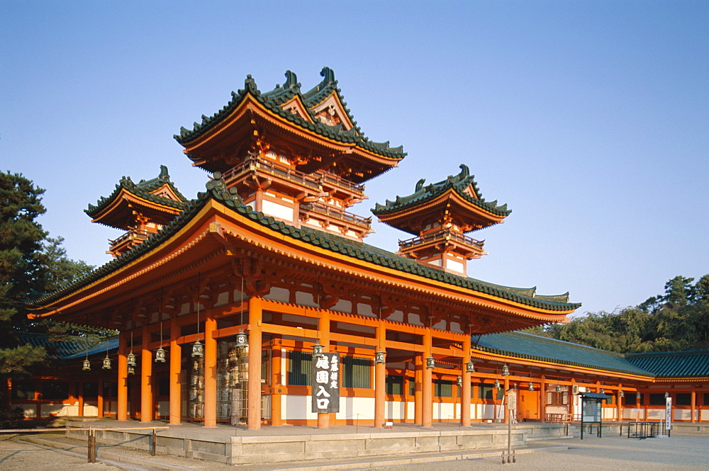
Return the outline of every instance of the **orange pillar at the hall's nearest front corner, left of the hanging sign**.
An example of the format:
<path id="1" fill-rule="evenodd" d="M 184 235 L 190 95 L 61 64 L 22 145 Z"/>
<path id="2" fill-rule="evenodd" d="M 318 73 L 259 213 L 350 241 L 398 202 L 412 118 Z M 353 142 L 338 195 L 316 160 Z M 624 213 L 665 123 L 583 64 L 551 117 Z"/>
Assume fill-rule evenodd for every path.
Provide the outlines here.
<path id="1" fill-rule="evenodd" d="M 262 300 L 249 298 L 249 380 L 248 409 L 246 414 L 249 430 L 261 429 L 261 344 Z"/>

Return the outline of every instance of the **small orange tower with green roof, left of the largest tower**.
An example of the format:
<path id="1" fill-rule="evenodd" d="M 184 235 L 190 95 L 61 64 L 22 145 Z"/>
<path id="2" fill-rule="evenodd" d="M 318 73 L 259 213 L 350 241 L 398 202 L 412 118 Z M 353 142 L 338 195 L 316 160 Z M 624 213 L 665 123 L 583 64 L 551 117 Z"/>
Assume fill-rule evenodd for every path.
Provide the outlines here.
<path id="1" fill-rule="evenodd" d="M 177 191 L 167 167 L 160 166 L 160 175 L 152 180 L 133 183 L 123 177 L 108 197 L 84 210 L 91 222 L 98 222 L 128 231 L 116 240 L 108 240 L 107 254 L 121 256 L 174 220 L 187 208 L 187 199 Z"/>

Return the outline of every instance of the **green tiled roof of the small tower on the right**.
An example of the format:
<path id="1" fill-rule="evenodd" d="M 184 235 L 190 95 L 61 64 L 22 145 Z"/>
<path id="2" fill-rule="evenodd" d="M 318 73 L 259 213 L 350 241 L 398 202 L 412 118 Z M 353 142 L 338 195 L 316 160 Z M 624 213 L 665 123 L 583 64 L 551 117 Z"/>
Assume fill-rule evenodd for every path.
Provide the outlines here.
<path id="1" fill-rule="evenodd" d="M 442 193 L 452 189 L 467 202 L 489 211 L 493 213 L 493 215 L 502 217 L 510 215 L 512 210 L 508 210 L 507 205 L 498 205 L 497 200 L 486 201 L 485 198 L 482 197 L 482 193 L 480 193 L 478 185 L 474 180 L 475 176 L 470 174 L 470 171 L 466 165 L 461 164 L 460 169 L 461 171 L 459 174 L 449 176 L 444 181 L 431 183 L 428 186 L 424 186 L 425 179 L 421 179 L 418 183 L 416 183 L 414 193 L 408 196 L 397 196 L 396 200 L 393 201 L 386 200 L 384 205 L 376 203 L 374 209 L 372 209 L 372 212 L 374 212 L 377 216 L 381 216 L 408 208 L 413 208 L 417 205 L 427 203 L 428 201 L 437 198 L 437 196 Z M 474 188 L 478 198 L 474 198 L 465 191 L 469 186 Z"/>

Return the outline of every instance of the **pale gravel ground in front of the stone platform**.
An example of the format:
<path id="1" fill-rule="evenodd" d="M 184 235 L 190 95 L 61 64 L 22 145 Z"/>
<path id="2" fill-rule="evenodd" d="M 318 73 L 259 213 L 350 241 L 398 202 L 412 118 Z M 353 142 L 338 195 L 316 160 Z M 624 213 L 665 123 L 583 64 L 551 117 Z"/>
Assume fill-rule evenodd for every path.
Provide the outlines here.
<path id="1" fill-rule="evenodd" d="M 42 446 L 16 441 L 4 437 L 0 441 L 0 470 L 66 470 L 68 467 L 99 470 L 116 469 L 103 463 L 86 463 L 85 455 L 72 456 Z M 490 458 L 476 460 L 445 460 L 441 455 L 430 456 L 429 463 L 417 465 L 396 465 L 377 467 L 376 469 L 412 470 L 412 471 L 455 471 L 455 470 L 569 470 L 581 468 L 586 470 L 709 470 L 709 436 L 672 436 L 671 438 L 647 438 L 635 440 L 621 437 L 590 438 L 584 441 L 579 438 L 535 442 L 535 448 L 566 446 L 568 450 L 543 451 L 538 453 L 518 453 L 516 463 L 501 463 L 501 454 Z M 85 452 L 85 450 L 84 450 Z M 122 453 L 129 453 L 140 458 L 150 459 L 146 452 L 121 448 Z M 427 455 L 428 456 L 428 455 Z M 369 460 L 386 460 L 387 458 L 415 458 L 416 455 L 390 456 L 369 458 Z M 239 469 L 263 470 L 298 468 L 300 470 L 333 470 L 338 463 L 347 463 L 348 469 L 364 469 L 354 464 L 355 460 L 318 460 L 301 463 L 278 463 L 267 468 L 263 466 L 231 466 L 218 463 L 193 460 L 177 456 L 158 455 L 153 458 L 161 463 L 173 466 L 191 468 L 193 470 L 226 470 Z M 367 460 L 367 461 L 369 461 Z M 381 463 L 381 461 L 380 461 Z M 335 465 L 335 466 L 333 466 Z"/>

